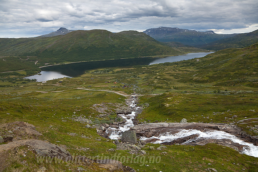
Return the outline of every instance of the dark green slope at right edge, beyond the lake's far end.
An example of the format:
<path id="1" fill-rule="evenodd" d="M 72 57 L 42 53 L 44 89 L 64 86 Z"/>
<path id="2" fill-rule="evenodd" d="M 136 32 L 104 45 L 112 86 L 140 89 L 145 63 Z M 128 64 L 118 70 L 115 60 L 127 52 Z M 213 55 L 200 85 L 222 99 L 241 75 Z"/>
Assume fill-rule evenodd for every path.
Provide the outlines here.
<path id="1" fill-rule="evenodd" d="M 241 33 L 234 37 L 211 42 L 200 47 L 209 50 L 221 50 L 226 48 L 243 48 L 256 42 L 258 42 L 258 30 L 249 33 Z"/>

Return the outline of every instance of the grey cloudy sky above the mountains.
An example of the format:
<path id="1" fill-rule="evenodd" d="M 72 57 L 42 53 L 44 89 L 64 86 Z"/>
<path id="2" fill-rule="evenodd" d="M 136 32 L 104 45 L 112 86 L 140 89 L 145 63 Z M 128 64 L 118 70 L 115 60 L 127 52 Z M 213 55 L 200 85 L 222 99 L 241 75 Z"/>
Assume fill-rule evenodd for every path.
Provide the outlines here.
<path id="1" fill-rule="evenodd" d="M 258 0 L 0 0 L 0 38 L 36 37 L 60 27 L 244 33 L 258 29 L 257 9 Z"/>

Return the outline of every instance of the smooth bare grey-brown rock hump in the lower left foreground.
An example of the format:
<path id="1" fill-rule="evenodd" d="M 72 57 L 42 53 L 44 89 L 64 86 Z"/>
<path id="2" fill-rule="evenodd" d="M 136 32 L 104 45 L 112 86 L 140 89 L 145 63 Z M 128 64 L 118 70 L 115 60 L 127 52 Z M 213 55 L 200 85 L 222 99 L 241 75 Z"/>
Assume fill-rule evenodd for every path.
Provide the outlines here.
<path id="1" fill-rule="evenodd" d="M 67 158 L 72 158 L 71 154 L 64 148 L 54 145 L 52 143 L 47 143 L 42 140 L 34 139 L 17 140 L 7 144 L 2 144 L 0 145 L 0 153 L 6 150 L 12 150 L 20 146 L 29 146 L 35 149 L 38 156 L 57 157 L 60 159 L 62 158 L 63 160 Z"/>

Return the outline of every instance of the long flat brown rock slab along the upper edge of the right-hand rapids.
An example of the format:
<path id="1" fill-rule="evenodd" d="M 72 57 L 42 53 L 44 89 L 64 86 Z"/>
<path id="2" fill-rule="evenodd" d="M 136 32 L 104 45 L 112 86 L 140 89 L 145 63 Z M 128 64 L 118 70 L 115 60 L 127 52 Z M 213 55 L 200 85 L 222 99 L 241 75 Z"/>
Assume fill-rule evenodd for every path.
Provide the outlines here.
<path id="1" fill-rule="evenodd" d="M 152 136 L 158 137 L 159 135 L 166 134 L 166 133 L 175 134 L 175 133 L 178 133 L 179 129 L 185 129 L 185 130 L 195 129 L 202 132 L 211 131 L 211 130 L 224 131 L 226 133 L 230 133 L 238 137 L 240 140 L 253 143 L 253 145 L 255 146 L 258 145 L 258 138 L 247 135 L 246 132 L 241 131 L 241 129 L 236 125 L 229 125 L 229 124 L 223 124 L 223 123 L 215 123 L 215 124 L 213 123 L 143 123 L 143 124 L 132 126 L 130 130 L 135 131 L 137 137 L 143 136 L 143 137 L 150 138 Z M 188 139 L 191 139 L 191 138 L 188 138 L 188 137 L 179 138 L 177 140 L 172 141 L 171 143 L 164 143 L 164 144 L 168 144 L 168 145 L 175 144 L 174 142 L 177 142 L 178 144 L 182 144 L 182 142 L 185 142 Z M 154 140 L 147 140 L 147 142 L 152 142 L 152 141 Z M 209 143 L 216 143 L 220 141 L 221 140 L 219 141 L 210 140 Z M 225 140 L 223 140 L 222 142 L 225 142 Z M 222 143 L 219 143 L 219 144 L 222 144 Z M 223 144 L 226 144 L 226 143 L 223 143 Z M 230 143 L 229 145 L 233 145 L 233 143 Z M 233 147 L 237 147 L 238 150 L 242 150 L 242 145 L 240 146 L 233 145 Z"/>

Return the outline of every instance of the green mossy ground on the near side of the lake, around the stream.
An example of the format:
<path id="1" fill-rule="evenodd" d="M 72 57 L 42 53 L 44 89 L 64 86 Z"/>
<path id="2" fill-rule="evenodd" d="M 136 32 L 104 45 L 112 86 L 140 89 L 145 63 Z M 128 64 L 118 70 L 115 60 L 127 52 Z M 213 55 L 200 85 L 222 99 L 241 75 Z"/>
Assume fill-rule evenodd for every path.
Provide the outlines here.
<path id="1" fill-rule="evenodd" d="M 148 143 L 142 149 L 146 155 L 131 155 L 127 150 L 110 151 L 116 148 L 113 140 L 100 137 L 96 129 L 86 127 L 87 123 L 72 119 L 75 115 L 97 123 L 114 120 L 114 114 L 99 118 L 93 105 L 102 103 L 114 110 L 118 103 L 125 104 L 126 97 L 75 88 L 104 89 L 144 95 L 139 96 L 139 103 L 145 107 L 137 116 L 139 122 L 179 122 L 186 118 L 188 122 L 234 123 L 255 136 L 257 133 L 247 126 L 258 125 L 257 120 L 237 122 L 258 117 L 257 54 L 254 45 L 245 49 L 222 50 L 200 58 L 198 62 L 192 59 L 109 72 L 91 70 L 76 78 L 63 78 L 62 83 L 58 83 L 60 79 L 44 84 L 26 82 L 12 85 L 3 81 L 6 82 L 3 85 L 12 86 L 0 87 L 0 124 L 14 121 L 31 123 L 43 134 L 40 139 L 66 147 L 71 154 L 99 156 L 100 159 L 116 156 L 117 160 L 136 171 L 205 171 L 207 168 L 257 171 L 258 158 L 217 144 L 173 145 L 158 151 L 148 148 L 157 148 L 158 144 Z M 105 83 L 107 81 L 110 83 Z M 123 89 L 124 84 L 130 87 Z M 232 118 L 234 115 L 237 117 Z M 77 167 L 82 167 L 75 163 L 37 162 L 33 153 L 17 159 L 11 158 L 5 171 L 37 171 L 42 166 L 48 171 L 76 171 Z M 22 164 L 23 160 L 29 165 Z M 83 168 L 105 171 L 94 164 Z"/>

